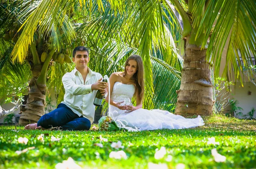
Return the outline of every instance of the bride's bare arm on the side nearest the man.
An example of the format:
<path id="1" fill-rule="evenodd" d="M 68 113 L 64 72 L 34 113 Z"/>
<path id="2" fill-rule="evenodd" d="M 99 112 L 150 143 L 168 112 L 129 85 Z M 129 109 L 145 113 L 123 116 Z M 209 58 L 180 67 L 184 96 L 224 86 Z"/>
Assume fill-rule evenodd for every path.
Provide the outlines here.
<path id="1" fill-rule="evenodd" d="M 114 73 L 112 73 L 111 76 L 109 77 L 110 93 L 108 93 L 108 95 L 110 95 L 110 96 L 111 96 L 112 91 L 113 91 L 113 86 L 114 86 L 115 82 L 118 80 L 118 76 L 119 76 L 119 74 L 116 73 L 116 72 L 114 72 Z M 118 109 L 120 109 L 120 110 L 125 110 L 125 106 L 121 106 L 121 104 L 120 104 L 120 103 L 122 103 L 123 101 L 122 101 L 122 102 L 114 102 L 111 98 L 110 98 L 110 101 L 109 101 L 109 100 L 108 100 L 108 96 L 106 97 L 105 100 L 106 100 L 106 102 L 108 102 L 109 104 L 111 104 L 111 105 L 117 107 Z"/>

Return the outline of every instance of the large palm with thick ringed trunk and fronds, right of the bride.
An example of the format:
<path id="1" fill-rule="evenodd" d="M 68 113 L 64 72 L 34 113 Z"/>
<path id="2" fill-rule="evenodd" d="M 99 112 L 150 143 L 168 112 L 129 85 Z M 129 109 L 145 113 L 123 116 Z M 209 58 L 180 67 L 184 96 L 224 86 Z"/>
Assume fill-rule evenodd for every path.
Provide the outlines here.
<path id="1" fill-rule="evenodd" d="M 211 69 L 214 63 L 215 76 L 218 77 L 220 63 L 223 61 L 221 54 L 228 35 L 230 39 L 223 76 L 235 80 L 240 78 L 242 66 L 240 62 L 239 65 L 236 63 L 236 59 L 239 60 L 240 56 L 244 65 L 248 66 L 251 63 L 251 53 L 256 55 L 256 2 L 254 0 L 186 0 L 183 3 L 178 0 L 165 0 L 164 2 L 174 13 L 176 10 L 179 12 L 182 18 L 182 22 L 179 23 L 183 23 L 180 26 L 183 25 L 183 37 L 186 42 L 175 112 L 210 115 L 213 106 Z M 227 75 L 228 71 L 235 76 Z"/>

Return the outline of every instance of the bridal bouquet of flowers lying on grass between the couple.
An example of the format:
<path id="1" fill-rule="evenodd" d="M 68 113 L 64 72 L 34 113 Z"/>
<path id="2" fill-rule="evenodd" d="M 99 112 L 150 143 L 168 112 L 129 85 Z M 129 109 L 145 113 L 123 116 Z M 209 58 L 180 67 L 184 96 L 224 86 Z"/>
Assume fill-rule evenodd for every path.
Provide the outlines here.
<path id="1" fill-rule="evenodd" d="M 99 130 L 100 131 L 115 131 L 120 130 L 116 122 L 109 116 L 102 116 L 99 119 Z"/>

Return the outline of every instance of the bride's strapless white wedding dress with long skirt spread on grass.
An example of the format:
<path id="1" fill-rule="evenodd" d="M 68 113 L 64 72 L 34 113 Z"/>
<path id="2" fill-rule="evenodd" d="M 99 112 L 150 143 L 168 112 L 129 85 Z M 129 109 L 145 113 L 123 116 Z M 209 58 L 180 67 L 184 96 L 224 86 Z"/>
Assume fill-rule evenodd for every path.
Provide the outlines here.
<path id="1" fill-rule="evenodd" d="M 113 86 L 111 99 L 114 102 L 124 101 L 127 97 L 131 99 L 134 92 L 134 85 L 116 82 Z M 125 110 L 120 110 L 115 106 L 109 105 L 109 116 L 119 126 L 129 131 L 186 129 L 204 125 L 204 120 L 199 115 L 197 118 L 190 119 L 159 109 L 137 109 L 133 112 L 126 113 Z"/>

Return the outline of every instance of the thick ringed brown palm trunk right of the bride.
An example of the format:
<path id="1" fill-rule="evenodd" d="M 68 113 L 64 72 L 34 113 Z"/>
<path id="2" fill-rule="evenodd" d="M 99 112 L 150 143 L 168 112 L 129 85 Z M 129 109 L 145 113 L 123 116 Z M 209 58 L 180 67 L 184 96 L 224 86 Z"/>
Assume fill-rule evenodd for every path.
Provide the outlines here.
<path id="1" fill-rule="evenodd" d="M 211 67 L 206 62 L 207 49 L 189 44 L 187 37 L 180 89 L 175 113 L 179 115 L 211 115 Z"/>

